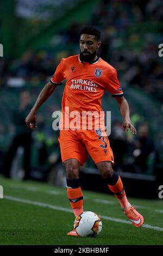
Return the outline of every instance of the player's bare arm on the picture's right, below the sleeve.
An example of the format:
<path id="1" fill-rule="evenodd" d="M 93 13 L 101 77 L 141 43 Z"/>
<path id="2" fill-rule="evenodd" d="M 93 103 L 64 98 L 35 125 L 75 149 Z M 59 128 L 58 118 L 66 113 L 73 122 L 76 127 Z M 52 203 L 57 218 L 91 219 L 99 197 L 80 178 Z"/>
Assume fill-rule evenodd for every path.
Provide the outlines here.
<path id="1" fill-rule="evenodd" d="M 125 99 L 124 96 L 115 97 L 115 99 L 118 102 L 118 106 L 120 108 L 120 112 L 123 117 L 123 124 L 122 124 L 123 131 L 128 131 L 128 129 L 130 129 L 131 133 L 136 134 L 136 129 L 131 124 L 131 121 L 130 121 L 130 109 L 129 109 L 127 100 Z"/>

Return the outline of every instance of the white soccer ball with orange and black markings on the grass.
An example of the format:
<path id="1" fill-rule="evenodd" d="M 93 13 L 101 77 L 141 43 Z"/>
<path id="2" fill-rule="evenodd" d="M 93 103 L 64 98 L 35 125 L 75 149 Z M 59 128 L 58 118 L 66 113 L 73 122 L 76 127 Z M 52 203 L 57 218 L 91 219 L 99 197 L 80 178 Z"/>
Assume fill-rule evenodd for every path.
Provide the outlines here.
<path id="1" fill-rule="evenodd" d="M 84 211 L 76 217 L 74 229 L 79 236 L 97 236 L 102 230 L 101 218 L 92 211 Z"/>

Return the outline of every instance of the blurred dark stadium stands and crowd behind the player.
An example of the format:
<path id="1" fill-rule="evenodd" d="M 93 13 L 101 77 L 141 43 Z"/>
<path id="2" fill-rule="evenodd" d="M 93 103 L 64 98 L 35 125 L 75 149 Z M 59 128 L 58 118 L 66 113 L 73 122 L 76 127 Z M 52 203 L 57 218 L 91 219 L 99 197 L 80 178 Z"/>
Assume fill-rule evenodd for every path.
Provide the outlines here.
<path id="1" fill-rule="evenodd" d="M 21 123 L 23 115 L 21 120 L 17 116 L 22 92 L 30 93 L 32 106 L 60 59 L 79 53 L 80 28 L 89 25 L 102 33 L 100 56 L 117 69 L 137 128 L 137 136 L 122 131 L 117 103 L 105 93 L 103 109 L 111 111 L 109 140 L 115 170 L 129 196 L 158 198 L 163 177 L 163 57 L 158 56 L 158 45 L 163 43 L 163 2 L 1 0 L 0 10 L 1 173 L 15 136 L 29 132 Z M 30 179 L 59 186 L 65 186 L 65 173 L 52 113 L 61 108 L 63 89 L 58 87 L 37 114 L 30 157 Z M 23 154 L 22 147 L 15 152 L 12 178 L 23 179 Z M 81 168 L 80 178 L 84 188 L 105 191 L 91 159 Z"/>

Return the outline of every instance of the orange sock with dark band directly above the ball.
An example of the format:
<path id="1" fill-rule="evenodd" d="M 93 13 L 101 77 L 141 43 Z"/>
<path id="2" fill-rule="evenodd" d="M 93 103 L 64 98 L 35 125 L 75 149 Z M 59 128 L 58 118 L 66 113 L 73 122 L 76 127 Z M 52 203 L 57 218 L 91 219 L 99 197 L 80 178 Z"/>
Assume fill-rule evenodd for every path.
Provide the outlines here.
<path id="1" fill-rule="evenodd" d="M 83 193 L 80 187 L 70 188 L 67 187 L 67 195 L 74 215 L 77 217 L 83 212 Z"/>

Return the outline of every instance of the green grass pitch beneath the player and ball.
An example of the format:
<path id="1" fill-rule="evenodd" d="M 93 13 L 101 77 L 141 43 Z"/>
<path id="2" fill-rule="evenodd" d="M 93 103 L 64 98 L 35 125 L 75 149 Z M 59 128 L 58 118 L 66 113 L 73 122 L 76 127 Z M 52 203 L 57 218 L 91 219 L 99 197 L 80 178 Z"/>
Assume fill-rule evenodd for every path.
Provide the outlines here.
<path id="1" fill-rule="evenodd" d="M 0 245 L 162 245 L 163 199 L 129 198 L 145 218 L 135 228 L 123 215 L 110 194 L 83 191 L 84 210 L 102 218 L 97 237 L 72 237 L 74 215 L 66 188 L 35 181 L 4 179 L 0 176 L 4 198 L 0 199 Z"/>

